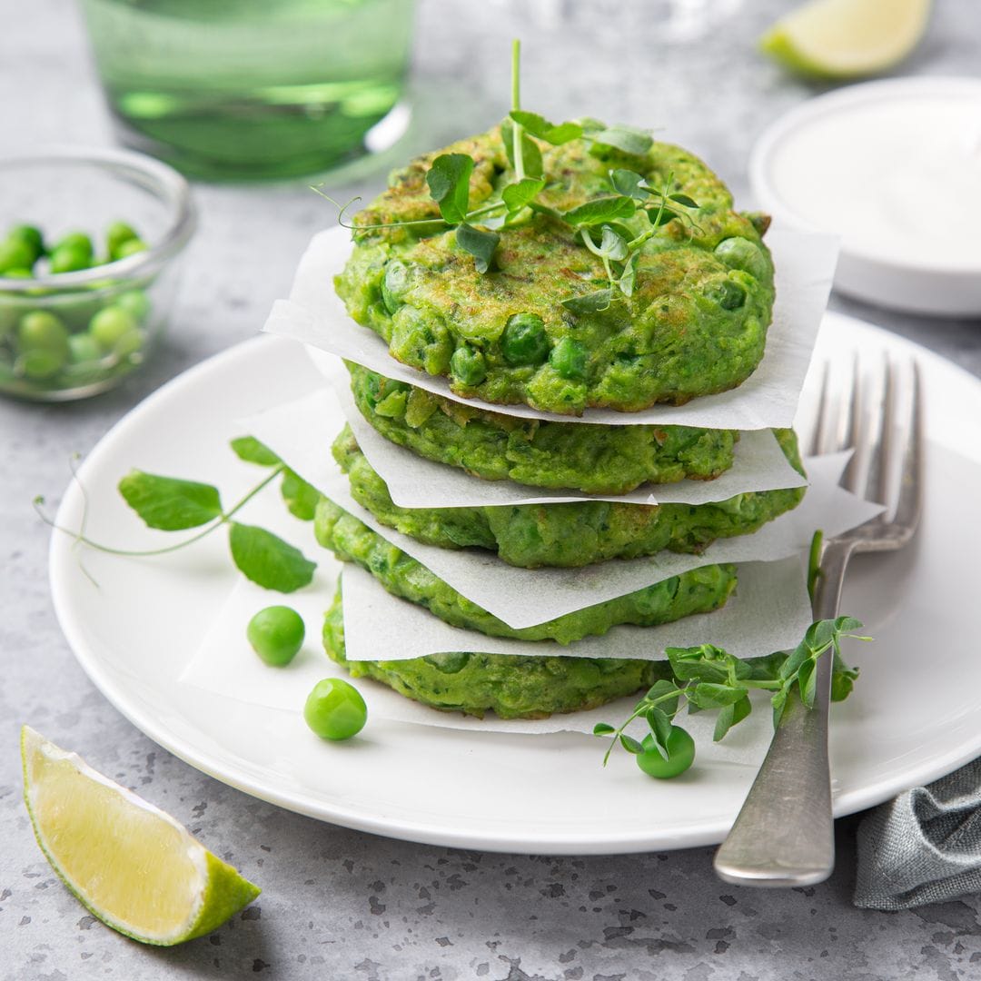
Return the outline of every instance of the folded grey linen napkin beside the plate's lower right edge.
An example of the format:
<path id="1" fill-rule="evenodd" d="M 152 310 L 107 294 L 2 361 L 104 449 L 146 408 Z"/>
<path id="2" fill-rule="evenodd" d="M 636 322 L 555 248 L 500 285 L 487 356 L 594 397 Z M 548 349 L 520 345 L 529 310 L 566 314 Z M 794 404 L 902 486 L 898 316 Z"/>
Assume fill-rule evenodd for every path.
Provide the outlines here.
<path id="1" fill-rule="evenodd" d="M 854 904 L 908 909 L 981 892 L 981 758 L 858 825 Z"/>

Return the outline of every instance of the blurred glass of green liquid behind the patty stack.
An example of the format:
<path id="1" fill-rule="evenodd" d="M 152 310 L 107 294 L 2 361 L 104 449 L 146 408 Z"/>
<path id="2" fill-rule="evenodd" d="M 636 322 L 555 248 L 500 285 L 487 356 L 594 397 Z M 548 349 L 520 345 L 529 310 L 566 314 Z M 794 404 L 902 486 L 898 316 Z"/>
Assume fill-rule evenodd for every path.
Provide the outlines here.
<path id="1" fill-rule="evenodd" d="M 130 145 L 217 180 L 324 171 L 398 102 L 412 0 L 84 0 Z"/>

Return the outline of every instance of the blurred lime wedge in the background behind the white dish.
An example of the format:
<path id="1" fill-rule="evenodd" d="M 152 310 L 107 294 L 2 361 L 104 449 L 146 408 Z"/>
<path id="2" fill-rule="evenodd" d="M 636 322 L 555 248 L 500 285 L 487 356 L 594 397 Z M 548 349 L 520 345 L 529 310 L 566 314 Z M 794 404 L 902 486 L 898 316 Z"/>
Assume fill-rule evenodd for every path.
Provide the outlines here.
<path id="1" fill-rule="evenodd" d="M 760 47 L 802 75 L 875 75 L 923 36 L 930 0 L 810 0 L 772 26 Z"/>

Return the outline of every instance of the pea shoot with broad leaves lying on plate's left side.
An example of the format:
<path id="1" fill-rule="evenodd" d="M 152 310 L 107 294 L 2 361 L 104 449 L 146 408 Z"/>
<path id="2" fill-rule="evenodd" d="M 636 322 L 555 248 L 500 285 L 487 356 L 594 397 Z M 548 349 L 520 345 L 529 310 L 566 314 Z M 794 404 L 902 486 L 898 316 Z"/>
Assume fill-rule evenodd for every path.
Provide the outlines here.
<path id="1" fill-rule="evenodd" d="M 290 512 L 297 518 L 302 520 L 313 518 L 314 508 L 320 494 L 291 471 L 271 449 L 257 439 L 252 437 L 232 439 L 232 450 L 239 459 L 246 463 L 269 467 L 271 472 L 228 510 L 222 504 L 220 491 L 211 484 L 181 480 L 176 477 L 162 477 L 158 474 L 145 473 L 142 470 L 131 470 L 120 481 L 119 491 L 123 499 L 139 515 L 147 528 L 164 532 L 201 529 L 190 538 L 161 548 L 116 548 L 89 539 L 85 534 L 88 499 L 80 483 L 83 509 L 77 532 L 56 524 L 46 514 L 42 496 L 34 498 L 34 509 L 46 524 L 56 531 L 70 535 L 77 544 L 84 544 L 97 551 L 108 552 L 113 555 L 130 557 L 149 557 L 178 551 L 194 542 L 200 542 L 219 528 L 228 527 L 232 562 L 238 570 L 247 579 L 267 590 L 275 590 L 278 593 L 293 593 L 312 581 L 314 570 L 317 568 L 316 562 L 311 562 L 298 548 L 289 542 L 284 542 L 279 536 L 265 528 L 245 525 L 232 519 L 256 494 L 281 476 L 283 478 L 281 492 L 284 501 Z M 72 471 L 77 480 L 74 465 Z M 87 572 L 86 575 L 88 575 Z"/>

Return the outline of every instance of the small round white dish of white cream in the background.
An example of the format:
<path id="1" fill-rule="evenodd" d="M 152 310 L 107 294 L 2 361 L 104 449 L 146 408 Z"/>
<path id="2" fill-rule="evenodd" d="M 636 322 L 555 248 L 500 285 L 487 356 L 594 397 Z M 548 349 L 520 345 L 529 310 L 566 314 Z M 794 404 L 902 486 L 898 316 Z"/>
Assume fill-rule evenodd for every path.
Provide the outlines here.
<path id="1" fill-rule="evenodd" d="M 749 182 L 783 225 L 842 235 L 841 292 L 981 316 L 981 78 L 888 78 L 808 99 L 756 141 Z"/>

